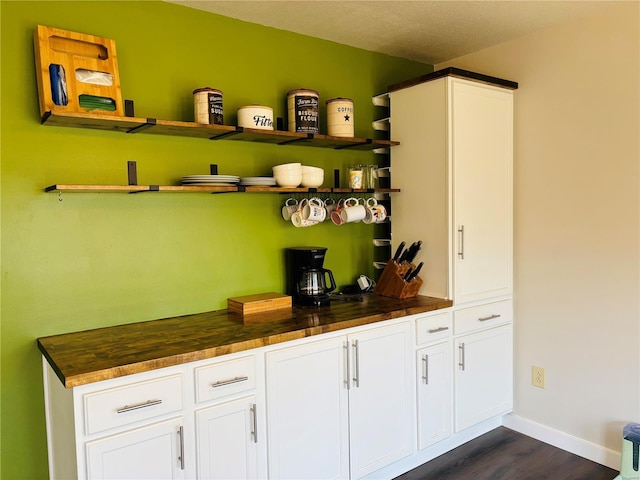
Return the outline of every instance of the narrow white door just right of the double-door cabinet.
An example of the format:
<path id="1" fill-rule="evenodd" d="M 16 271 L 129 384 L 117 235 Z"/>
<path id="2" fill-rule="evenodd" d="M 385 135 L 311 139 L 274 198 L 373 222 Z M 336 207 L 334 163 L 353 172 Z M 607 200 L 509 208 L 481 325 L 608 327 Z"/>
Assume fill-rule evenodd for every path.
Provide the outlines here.
<path id="1" fill-rule="evenodd" d="M 451 435 L 451 344 L 417 352 L 418 449 Z"/>

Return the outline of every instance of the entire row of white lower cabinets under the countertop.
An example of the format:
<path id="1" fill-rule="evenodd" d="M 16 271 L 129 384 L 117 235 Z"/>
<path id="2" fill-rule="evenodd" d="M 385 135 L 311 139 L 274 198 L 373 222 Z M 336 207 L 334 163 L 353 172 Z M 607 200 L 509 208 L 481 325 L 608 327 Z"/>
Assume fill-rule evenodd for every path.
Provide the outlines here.
<path id="1" fill-rule="evenodd" d="M 43 365 L 52 479 L 392 478 L 511 409 L 511 301 L 71 389 Z"/>

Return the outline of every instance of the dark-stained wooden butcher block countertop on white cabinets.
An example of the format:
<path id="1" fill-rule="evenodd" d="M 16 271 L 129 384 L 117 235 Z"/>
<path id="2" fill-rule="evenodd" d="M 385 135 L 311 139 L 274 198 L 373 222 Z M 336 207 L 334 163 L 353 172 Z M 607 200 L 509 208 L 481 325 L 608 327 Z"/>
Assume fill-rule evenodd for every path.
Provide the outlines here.
<path id="1" fill-rule="evenodd" d="M 242 317 L 229 311 L 184 315 L 38 339 L 66 388 L 217 357 L 252 348 L 429 312 L 449 300 L 398 300 L 374 294 Z"/>

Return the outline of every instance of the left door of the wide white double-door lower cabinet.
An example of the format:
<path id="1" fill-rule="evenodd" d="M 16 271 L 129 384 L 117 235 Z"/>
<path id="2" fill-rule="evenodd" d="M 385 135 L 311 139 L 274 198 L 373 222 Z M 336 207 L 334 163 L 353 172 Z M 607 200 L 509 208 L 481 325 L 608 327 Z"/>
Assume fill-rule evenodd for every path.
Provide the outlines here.
<path id="1" fill-rule="evenodd" d="M 269 477 L 349 478 L 346 337 L 266 354 Z"/>

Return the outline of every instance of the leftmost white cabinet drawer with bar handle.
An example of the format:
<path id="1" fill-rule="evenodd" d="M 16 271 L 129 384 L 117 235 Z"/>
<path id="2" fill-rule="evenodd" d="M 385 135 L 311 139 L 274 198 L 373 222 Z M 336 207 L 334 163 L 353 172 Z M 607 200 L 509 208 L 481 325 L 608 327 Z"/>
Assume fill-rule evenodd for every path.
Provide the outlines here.
<path id="1" fill-rule="evenodd" d="M 87 435 L 182 410 L 182 374 L 84 395 Z"/>

